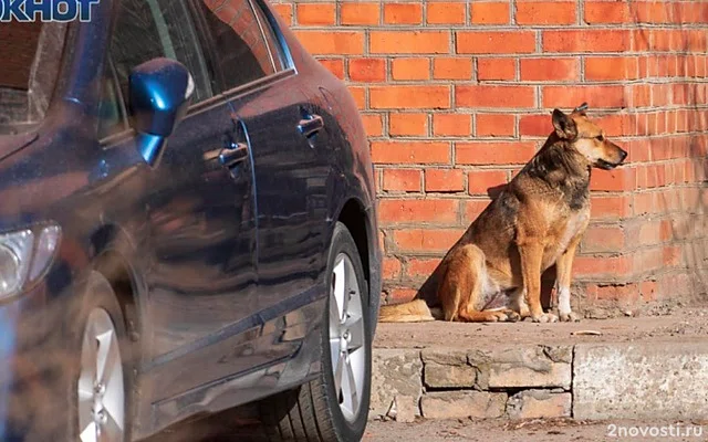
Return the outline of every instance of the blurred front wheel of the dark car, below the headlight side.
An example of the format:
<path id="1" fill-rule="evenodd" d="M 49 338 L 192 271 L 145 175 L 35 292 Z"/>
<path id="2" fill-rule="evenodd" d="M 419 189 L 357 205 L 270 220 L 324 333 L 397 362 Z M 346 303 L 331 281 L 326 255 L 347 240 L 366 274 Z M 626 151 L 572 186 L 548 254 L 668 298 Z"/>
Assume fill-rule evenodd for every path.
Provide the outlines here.
<path id="1" fill-rule="evenodd" d="M 131 441 L 134 377 L 131 361 L 134 360 L 134 355 L 131 352 L 133 346 L 128 340 L 126 323 L 113 287 L 101 273 L 92 272 L 86 283 L 84 296 L 75 296 L 71 305 L 74 307 L 72 312 L 76 312 L 76 314 L 67 314 L 66 320 L 69 323 L 65 328 L 71 370 L 67 370 L 63 382 L 69 387 L 65 396 L 69 398 L 65 429 L 67 438 L 63 440 L 79 441 L 82 431 L 91 431 L 86 430 L 92 419 L 88 418 L 92 414 L 87 411 L 86 406 L 88 402 L 95 401 L 97 394 L 102 394 L 100 401 L 104 407 L 103 415 L 106 420 L 104 425 L 115 422 L 122 427 L 122 433 L 115 434 L 115 438 L 108 438 L 108 440 L 112 442 Z M 93 349 L 95 349 L 97 358 L 94 360 L 91 359 L 94 356 Z M 98 386 L 95 386 L 98 376 L 92 378 L 88 367 L 94 362 L 98 366 L 103 360 L 101 355 L 106 356 L 104 367 L 112 366 L 114 375 L 106 376 L 105 382 L 100 381 Z M 118 361 L 111 364 L 116 356 L 119 358 Z M 83 392 L 81 404 L 80 385 Z M 95 386 L 95 388 L 91 390 L 91 386 Z M 103 386 L 103 393 L 98 393 L 101 386 Z M 86 396 L 90 392 L 93 394 L 91 399 Z M 116 394 L 122 394 L 122 404 L 116 399 Z"/>

